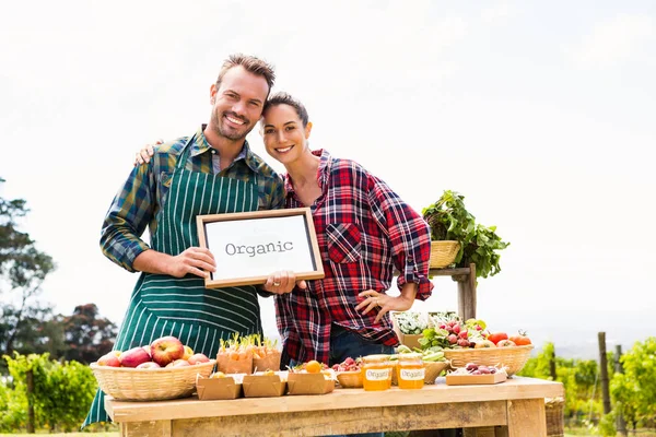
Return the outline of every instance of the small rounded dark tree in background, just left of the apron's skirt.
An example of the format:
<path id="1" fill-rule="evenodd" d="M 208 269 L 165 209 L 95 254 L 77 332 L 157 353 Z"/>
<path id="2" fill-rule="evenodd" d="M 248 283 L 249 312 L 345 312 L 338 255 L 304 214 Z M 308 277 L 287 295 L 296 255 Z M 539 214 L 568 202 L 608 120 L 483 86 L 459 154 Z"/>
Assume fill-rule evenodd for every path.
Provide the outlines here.
<path id="1" fill-rule="evenodd" d="M 63 318 L 67 343 L 65 357 L 89 364 L 112 351 L 116 338 L 116 324 L 97 318 L 95 304 L 79 305 L 72 316 Z"/>

